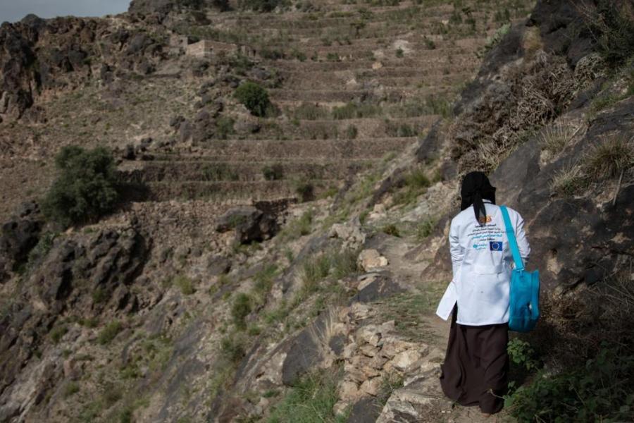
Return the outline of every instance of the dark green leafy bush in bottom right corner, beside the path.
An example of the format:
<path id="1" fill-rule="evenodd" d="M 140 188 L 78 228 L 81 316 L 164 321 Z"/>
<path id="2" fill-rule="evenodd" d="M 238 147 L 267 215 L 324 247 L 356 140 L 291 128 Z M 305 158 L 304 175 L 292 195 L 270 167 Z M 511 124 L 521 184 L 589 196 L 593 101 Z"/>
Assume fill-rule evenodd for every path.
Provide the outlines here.
<path id="1" fill-rule="evenodd" d="M 631 422 L 634 355 L 606 345 L 585 366 L 559 374 L 540 372 L 506 396 L 518 422 Z"/>

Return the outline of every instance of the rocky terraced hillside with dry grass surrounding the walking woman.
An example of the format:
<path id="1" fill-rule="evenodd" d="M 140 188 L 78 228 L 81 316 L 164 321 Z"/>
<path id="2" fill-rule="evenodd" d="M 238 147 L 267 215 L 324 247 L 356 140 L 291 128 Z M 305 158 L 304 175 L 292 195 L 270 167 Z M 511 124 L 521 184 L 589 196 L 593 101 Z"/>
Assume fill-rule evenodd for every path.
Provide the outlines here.
<path id="1" fill-rule="evenodd" d="M 4 23 L 0 422 L 480 421 L 440 392 L 433 316 L 474 169 L 544 288 L 504 418 L 629 421 L 633 22 L 627 1 L 135 0 Z M 113 152 L 120 194 L 70 226 L 44 207 L 68 145 Z M 606 375 L 553 386 L 602 341 L 621 361 L 590 409 Z"/>

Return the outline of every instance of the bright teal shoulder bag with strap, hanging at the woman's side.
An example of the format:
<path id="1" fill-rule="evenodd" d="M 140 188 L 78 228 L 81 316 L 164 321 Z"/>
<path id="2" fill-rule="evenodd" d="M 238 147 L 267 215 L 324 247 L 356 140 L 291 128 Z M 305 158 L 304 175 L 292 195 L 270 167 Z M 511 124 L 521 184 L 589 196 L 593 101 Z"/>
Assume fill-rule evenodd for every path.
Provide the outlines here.
<path id="1" fill-rule="evenodd" d="M 511 297 L 509 304 L 509 329 L 516 332 L 528 332 L 535 328 L 540 318 L 540 273 L 526 271 L 517 247 L 517 240 L 509 211 L 505 206 L 499 207 L 504 217 L 506 237 L 513 253 L 515 269 L 511 274 Z"/>

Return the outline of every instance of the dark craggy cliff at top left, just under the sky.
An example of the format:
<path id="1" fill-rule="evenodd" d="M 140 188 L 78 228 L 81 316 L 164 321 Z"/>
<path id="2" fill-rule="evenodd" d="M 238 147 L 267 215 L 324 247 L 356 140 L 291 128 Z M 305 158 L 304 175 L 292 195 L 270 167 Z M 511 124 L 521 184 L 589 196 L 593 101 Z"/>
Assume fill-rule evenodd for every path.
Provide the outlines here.
<path id="1" fill-rule="evenodd" d="M 74 90 L 114 75 L 151 73 L 166 40 L 124 20 L 41 19 L 30 15 L 0 27 L 0 118 L 21 118 L 48 92 Z M 37 107 L 30 111 L 38 121 Z"/>

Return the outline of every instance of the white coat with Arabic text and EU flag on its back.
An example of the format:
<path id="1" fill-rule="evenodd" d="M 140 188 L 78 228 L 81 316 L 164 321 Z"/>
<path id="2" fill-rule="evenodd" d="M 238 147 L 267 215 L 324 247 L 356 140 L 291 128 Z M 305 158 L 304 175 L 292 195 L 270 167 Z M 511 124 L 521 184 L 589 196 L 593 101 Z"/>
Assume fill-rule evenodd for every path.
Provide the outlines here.
<path id="1" fill-rule="evenodd" d="M 504 218 L 499 206 L 484 200 L 486 223 L 475 221 L 473 207 L 452 219 L 449 247 L 453 278 L 445 290 L 436 314 L 447 320 L 458 302 L 456 322 L 469 326 L 500 324 L 509 321 L 509 291 L 513 255 L 506 238 Z M 520 255 L 524 264 L 530 246 L 520 214 L 509 207 Z M 480 216 L 483 219 L 483 216 Z"/>

